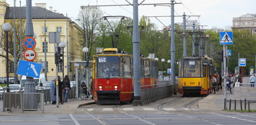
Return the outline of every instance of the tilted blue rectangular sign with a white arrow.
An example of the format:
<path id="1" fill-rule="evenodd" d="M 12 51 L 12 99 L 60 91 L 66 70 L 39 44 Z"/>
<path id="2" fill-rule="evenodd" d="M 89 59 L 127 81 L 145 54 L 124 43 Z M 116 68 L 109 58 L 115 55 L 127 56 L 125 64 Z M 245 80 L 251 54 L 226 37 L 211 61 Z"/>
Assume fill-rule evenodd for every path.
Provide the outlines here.
<path id="1" fill-rule="evenodd" d="M 42 64 L 20 60 L 17 69 L 17 74 L 39 78 L 41 69 Z"/>

